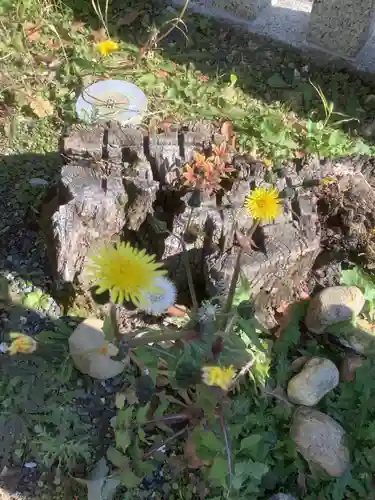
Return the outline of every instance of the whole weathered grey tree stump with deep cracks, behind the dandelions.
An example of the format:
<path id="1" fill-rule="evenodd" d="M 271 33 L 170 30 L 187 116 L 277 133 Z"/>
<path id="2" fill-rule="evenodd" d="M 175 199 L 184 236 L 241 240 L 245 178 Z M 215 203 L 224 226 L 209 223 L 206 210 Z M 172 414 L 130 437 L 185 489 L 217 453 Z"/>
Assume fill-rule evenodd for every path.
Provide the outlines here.
<path id="1" fill-rule="evenodd" d="M 259 161 L 235 155 L 234 172 L 218 196 L 189 192 L 181 178 L 184 163 L 193 159 L 194 151 L 209 151 L 215 137 L 221 141 L 215 135 L 218 129 L 202 127 L 150 137 L 112 123 L 71 131 L 64 155 L 72 163 L 62 170 L 50 204 L 52 215 L 45 216 L 56 277 L 78 277 L 85 283 L 89 255 L 126 235 L 163 260 L 179 292 L 188 290 L 185 248 L 200 295 L 227 293 L 238 238 L 253 224 L 244 201 L 250 189 L 267 185 L 266 169 Z M 293 185 L 303 180 L 295 171 L 287 175 Z M 282 180 L 281 186 L 286 182 Z M 242 272 L 260 309 L 275 295 L 287 300 L 319 252 L 316 200 L 311 191 L 293 196 L 293 204 L 285 201 L 284 215 L 275 224 L 262 225 L 258 248 L 244 253 Z"/>

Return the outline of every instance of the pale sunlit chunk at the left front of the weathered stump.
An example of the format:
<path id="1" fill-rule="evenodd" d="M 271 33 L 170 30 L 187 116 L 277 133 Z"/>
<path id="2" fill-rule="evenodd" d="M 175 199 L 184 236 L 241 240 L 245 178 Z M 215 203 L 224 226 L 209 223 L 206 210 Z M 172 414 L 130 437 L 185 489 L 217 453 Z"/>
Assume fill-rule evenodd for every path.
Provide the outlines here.
<path id="1" fill-rule="evenodd" d="M 59 190 L 69 200 L 51 217 L 55 274 L 72 282 L 95 247 L 120 234 L 127 194 L 121 175 L 108 176 L 106 191 L 94 168 L 69 164 L 63 167 Z"/>

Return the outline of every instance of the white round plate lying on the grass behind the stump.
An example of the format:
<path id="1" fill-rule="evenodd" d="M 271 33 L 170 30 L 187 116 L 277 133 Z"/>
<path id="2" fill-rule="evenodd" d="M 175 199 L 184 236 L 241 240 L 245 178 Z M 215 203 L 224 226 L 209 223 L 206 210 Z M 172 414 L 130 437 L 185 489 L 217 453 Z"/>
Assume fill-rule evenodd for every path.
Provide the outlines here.
<path id="1" fill-rule="evenodd" d="M 93 123 L 116 120 L 122 124 L 140 123 L 147 111 L 147 97 L 125 80 L 100 80 L 80 94 L 76 112 L 80 120 Z"/>

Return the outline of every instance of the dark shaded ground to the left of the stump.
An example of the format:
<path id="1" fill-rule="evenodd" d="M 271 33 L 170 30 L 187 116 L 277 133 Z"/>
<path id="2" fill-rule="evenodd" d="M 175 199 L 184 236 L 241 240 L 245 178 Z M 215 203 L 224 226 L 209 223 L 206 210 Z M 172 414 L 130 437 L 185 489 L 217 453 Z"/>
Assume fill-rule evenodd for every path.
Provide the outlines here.
<path id="1" fill-rule="evenodd" d="M 59 182 L 62 165 L 58 152 L 0 157 L 0 268 L 30 286 L 50 286 L 39 208 Z"/>

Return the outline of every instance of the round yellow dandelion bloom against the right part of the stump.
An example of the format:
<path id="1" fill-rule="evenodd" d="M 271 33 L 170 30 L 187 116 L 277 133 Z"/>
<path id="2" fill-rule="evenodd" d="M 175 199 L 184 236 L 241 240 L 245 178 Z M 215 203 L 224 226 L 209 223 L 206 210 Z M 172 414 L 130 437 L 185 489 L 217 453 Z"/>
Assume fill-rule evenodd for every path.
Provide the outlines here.
<path id="1" fill-rule="evenodd" d="M 279 193 L 275 188 L 254 189 L 245 200 L 245 208 L 254 219 L 271 222 L 281 214 Z"/>

